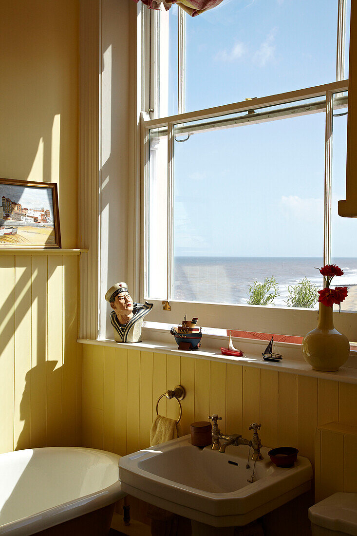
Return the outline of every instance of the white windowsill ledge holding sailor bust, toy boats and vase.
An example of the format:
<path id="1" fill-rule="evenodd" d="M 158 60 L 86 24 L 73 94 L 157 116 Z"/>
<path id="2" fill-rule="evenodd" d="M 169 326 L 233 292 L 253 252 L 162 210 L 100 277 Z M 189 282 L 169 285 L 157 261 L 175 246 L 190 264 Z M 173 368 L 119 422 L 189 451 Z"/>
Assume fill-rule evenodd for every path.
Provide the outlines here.
<path id="1" fill-rule="evenodd" d="M 143 328 L 144 343 L 116 343 L 110 339 L 77 339 L 80 344 L 91 344 L 99 346 L 110 346 L 114 348 L 136 349 L 142 352 L 155 352 L 168 355 L 182 355 L 195 359 L 205 359 L 207 361 L 219 361 L 222 363 L 237 363 L 244 367 L 254 367 L 259 369 L 275 370 L 300 376 L 310 376 L 313 378 L 330 379 L 336 382 L 357 384 L 357 352 L 351 352 L 347 361 L 347 366 L 341 367 L 338 372 L 320 372 L 311 369 L 310 365 L 304 361 L 301 346 L 291 343 L 279 343 L 280 352 L 284 358 L 279 363 L 264 361 L 262 350 L 266 346 L 266 341 L 252 341 L 251 339 L 239 339 L 239 344 L 244 348 L 246 356 L 241 358 L 221 355 L 220 346 L 227 346 L 227 338 L 205 335 L 204 346 L 197 351 L 181 351 L 177 349 L 175 343 L 170 342 L 169 334 L 164 330 L 150 330 Z M 162 332 L 160 332 L 162 331 Z M 167 337 L 168 335 L 168 337 Z M 155 340 L 153 340 L 155 338 Z M 238 340 L 238 339 L 236 339 Z M 234 345 L 239 347 L 234 340 Z M 211 347 L 210 347 L 211 346 Z"/>

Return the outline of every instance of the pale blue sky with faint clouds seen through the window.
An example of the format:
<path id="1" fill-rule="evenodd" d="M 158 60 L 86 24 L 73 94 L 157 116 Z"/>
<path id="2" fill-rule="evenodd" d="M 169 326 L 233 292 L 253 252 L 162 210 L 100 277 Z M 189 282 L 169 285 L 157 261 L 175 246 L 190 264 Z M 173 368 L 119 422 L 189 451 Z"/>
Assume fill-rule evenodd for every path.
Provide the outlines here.
<path id="1" fill-rule="evenodd" d="M 187 16 L 186 110 L 334 81 L 337 4 L 224 0 Z M 174 114 L 176 6 L 169 31 Z M 357 257 L 351 240 L 357 222 L 337 214 L 337 201 L 345 198 L 346 116 L 335 117 L 333 126 L 332 255 Z M 175 255 L 322 255 L 324 138 L 324 114 L 314 114 L 175 143 Z"/>

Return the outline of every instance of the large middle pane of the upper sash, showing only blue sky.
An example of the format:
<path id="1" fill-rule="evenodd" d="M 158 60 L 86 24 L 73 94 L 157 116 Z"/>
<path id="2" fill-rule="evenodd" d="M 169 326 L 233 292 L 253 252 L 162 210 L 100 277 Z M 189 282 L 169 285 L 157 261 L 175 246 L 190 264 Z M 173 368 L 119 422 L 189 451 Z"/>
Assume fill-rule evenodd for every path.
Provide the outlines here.
<path id="1" fill-rule="evenodd" d="M 335 80 L 337 6 L 224 0 L 187 16 L 187 111 Z"/>

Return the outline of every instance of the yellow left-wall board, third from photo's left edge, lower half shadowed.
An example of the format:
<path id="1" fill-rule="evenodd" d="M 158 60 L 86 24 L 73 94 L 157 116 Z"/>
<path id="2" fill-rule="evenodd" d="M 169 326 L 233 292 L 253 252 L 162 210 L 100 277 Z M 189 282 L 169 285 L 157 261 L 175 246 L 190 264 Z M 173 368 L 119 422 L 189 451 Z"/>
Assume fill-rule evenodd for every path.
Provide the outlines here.
<path id="1" fill-rule="evenodd" d="M 32 257 L 31 308 L 31 378 L 30 428 L 31 446 L 46 446 L 47 424 L 47 257 Z"/>

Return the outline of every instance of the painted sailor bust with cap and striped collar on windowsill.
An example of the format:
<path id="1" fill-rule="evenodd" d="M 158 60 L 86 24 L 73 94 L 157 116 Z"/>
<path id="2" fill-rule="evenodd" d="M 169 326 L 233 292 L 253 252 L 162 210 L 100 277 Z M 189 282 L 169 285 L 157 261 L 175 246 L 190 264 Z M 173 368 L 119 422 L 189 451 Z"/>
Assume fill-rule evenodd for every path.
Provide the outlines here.
<path id="1" fill-rule="evenodd" d="M 151 311 L 153 304 L 135 303 L 124 282 L 116 283 L 106 293 L 110 303 L 110 323 L 117 343 L 138 343 L 141 340 L 143 319 Z"/>

